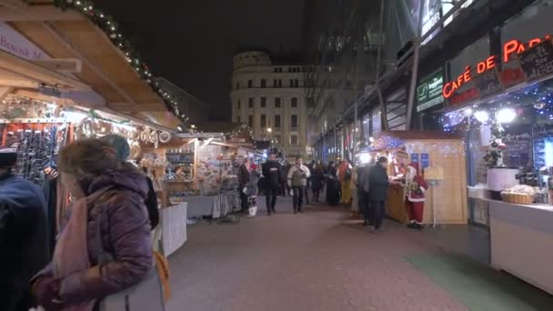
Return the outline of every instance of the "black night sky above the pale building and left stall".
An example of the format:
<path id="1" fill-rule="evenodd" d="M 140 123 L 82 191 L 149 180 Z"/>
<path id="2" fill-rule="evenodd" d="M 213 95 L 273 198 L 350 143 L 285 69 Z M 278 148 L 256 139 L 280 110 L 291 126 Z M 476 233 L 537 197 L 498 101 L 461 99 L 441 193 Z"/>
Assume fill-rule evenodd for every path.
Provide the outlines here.
<path id="1" fill-rule="evenodd" d="M 155 75 L 230 119 L 232 56 L 258 46 L 276 55 L 302 49 L 303 0 L 96 0 L 113 15 Z"/>

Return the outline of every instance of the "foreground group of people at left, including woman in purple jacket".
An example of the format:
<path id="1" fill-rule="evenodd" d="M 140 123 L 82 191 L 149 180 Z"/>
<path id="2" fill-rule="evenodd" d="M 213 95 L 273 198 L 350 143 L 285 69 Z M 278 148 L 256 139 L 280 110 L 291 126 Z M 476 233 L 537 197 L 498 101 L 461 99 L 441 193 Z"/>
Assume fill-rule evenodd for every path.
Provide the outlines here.
<path id="1" fill-rule="evenodd" d="M 94 311 L 129 299 L 163 308 L 156 307 L 163 304 L 152 239 L 156 194 L 128 154 L 126 139 L 115 135 L 60 151 L 72 204 L 51 252 L 42 189 L 13 174 L 14 149 L 0 150 L 0 310 Z M 131 286 L 134 294 L 126 293 Z"/>

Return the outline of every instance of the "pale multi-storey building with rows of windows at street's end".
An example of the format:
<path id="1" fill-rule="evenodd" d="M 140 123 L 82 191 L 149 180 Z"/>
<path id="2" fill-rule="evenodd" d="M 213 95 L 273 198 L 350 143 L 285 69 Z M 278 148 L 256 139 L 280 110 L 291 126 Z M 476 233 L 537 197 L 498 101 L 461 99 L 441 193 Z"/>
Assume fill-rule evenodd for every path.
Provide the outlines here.
<path id="1" fill-rule="evenodd" d="M 236 54 L 233 66 L 232 121 L 250 126 L 256 140 L 271 141 L 289 157 L 310 157 L 309 66 L 276 65 L 260 51 Z"/>

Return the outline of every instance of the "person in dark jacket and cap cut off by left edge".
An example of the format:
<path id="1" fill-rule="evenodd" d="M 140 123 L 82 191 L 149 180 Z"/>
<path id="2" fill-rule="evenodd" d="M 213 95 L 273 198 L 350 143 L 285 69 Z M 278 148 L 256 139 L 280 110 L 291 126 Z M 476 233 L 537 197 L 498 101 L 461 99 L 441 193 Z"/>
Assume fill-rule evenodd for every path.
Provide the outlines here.
<path id="1" fill-rule="evenodd" d="M 17 154 L 0 150 L 0 310 L 34 305 L 29 281 L 49 261 L 46 202 L 42 189 L 14 176 Z"/>

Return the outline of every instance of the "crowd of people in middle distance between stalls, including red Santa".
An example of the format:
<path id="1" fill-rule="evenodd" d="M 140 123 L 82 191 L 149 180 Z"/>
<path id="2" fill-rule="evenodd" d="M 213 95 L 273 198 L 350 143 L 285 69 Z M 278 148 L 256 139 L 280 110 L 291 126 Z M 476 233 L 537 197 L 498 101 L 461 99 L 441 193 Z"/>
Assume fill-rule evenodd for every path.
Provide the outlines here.
<path id="1" fill-rule="evenodd" d="M 294 164 L 281 166 L 274 155 L 259 169 L 246 159 L 239 170 L 239 188 L 242 211 L 248 216 L 256 216 L 256 196 L 265 194 L 267 215 L 276 213 L 277 196 L 293 196 L 294 214 L 303 213 L 309 197 L 313 203 L 321 202 L 321 194 L 326 194 L 328 206 L 350 206 L 351 217 L 363 219 L 364 226 L 371 230 L 382 230 L 386 215 L 385 206 L 390 185 L 402 186 L 408 227 L 423 228 L 423 209 L 427 184 L 418 173 L 417 164 L 406 166 L 406 172 L 397 178 L 387 175 L 388 159 L 380 156 L 370 163 L 352 165 L 349 160 L 337 159 L 327 166 L 321 162 L 304 165 L 301 158 Z M 255 184 L 255 186 L 253 185 Z"/>

